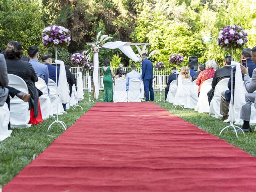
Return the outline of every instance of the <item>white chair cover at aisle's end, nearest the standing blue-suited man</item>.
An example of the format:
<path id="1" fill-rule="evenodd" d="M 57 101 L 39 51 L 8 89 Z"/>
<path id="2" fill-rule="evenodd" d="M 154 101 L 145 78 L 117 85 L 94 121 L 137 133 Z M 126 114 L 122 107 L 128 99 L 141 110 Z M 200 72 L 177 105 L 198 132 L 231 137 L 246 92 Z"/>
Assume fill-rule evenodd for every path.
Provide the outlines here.
<path id="1" fill-rule="evenodd" d="M 127 92 L 128 102 L 141 102 L 141 92 L 140 92 L 140 80 L 133 78 L 129 82 L 129 90 Z"/>

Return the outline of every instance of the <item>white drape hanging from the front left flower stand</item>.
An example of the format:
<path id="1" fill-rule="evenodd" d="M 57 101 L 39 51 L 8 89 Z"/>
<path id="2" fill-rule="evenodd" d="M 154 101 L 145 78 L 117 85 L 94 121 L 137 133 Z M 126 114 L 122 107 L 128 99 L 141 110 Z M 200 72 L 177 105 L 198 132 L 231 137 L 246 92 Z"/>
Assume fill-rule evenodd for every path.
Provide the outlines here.
<path id="1" fill-rule="evenodd" d="M 60 64 L 60 76 L 58 79 L 58 95 L 61 103 L 68 102 L 68 86 L 67 86 L 67 76 L 65 70 L 65 64 L 63 61 L 55 60 L 55 63 Z M 57 77 L 56 77 L 57 78 Z"/>

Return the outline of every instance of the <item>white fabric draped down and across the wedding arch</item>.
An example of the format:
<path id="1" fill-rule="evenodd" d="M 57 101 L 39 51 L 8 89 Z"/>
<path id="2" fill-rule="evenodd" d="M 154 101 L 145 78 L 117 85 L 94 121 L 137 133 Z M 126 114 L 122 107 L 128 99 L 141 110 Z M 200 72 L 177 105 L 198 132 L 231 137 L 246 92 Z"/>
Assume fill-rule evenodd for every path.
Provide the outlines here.
<path id="1" fill-rule="evenodd" d="M 127 42 L 115 41 L 115 42 L 107 42 L 102 46 L 102 48 L 107 49 L 116 49 L 119 48 L 128 58 L 132 59 L 135 62 L 140 62 L 140 59 L 133 52 L 130 45 L 125 45 Z M 98 53 L 94 53 L 94 70 L 93 70 L 93 82 L 95 88 L 95 98 L 99 97 L 99 55 Z"/>

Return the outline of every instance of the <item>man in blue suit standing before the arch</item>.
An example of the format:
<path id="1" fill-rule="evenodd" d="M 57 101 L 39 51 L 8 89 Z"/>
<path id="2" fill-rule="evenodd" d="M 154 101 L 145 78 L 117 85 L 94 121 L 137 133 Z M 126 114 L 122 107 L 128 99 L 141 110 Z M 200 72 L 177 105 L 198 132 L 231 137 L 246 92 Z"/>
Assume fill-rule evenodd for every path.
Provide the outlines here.
<path id="1" fill-rule="evenodd" d="M 149 93 L 150 93 L 150 100 L 154 100 L 154 90 L 153 90 L 153 64 L 150 60 L 147 59 L 147 54 L 142 54 L 142 75 L 141 78 L 143 80 L 146 101 L 149 101 Z"/>

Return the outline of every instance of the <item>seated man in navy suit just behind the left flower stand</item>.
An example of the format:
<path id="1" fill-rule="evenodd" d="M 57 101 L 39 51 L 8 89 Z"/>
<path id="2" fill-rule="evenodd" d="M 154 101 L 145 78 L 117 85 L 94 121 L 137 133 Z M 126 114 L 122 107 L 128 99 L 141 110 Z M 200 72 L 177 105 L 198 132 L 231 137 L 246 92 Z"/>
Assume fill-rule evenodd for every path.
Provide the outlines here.
<path id="1" fill-rule="evenodd" d="M 43 64 L 48 67 L 49 78 L 56 82 L 56 66 L 52 65 L 52 55 L 51 54 L 44 54 L 41 56 Z M 60 76 L 60 67 L 57 66 L 57 77 L 59 79 Z"/>

